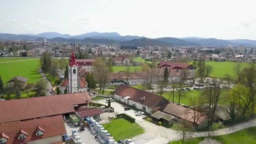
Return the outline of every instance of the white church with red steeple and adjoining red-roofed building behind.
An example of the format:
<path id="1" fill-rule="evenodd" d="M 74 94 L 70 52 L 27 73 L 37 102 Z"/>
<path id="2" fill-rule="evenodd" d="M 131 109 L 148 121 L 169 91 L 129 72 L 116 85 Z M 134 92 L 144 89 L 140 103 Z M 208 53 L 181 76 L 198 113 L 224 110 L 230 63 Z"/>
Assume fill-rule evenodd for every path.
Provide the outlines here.
<path id="1" fill-rule="evenodd" d="M 79 62 L 77 62 L 75 54 L 72 52 L 68 65 L 69 75 L 59 84 L 61 93 L 64 93 L 65 89 L 67 89 L 67 93 L 80 93 L 87 91 L 85 75 L 88 72 L 93 71 L 91 68 L 86 71 L 83 67 L 92 67 L 93 62 L 93 59 L 80 59 Z"/>

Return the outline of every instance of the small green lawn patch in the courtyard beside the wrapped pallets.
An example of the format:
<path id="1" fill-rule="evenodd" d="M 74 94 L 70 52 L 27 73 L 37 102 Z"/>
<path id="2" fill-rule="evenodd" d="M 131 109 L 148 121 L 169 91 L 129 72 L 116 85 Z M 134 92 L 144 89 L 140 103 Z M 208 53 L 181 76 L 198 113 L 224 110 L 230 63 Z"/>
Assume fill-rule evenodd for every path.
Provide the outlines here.
<path id="1" fill-rule="evenodd" d="M 141 128 L 137 123 L 130 123 L 129 121 L 118 118 L 110 120 L 110 123 L 102 125 L 111 136 L 114 136 L 115 140 L 129 139 L 144 133 L 144 129 Z"/>

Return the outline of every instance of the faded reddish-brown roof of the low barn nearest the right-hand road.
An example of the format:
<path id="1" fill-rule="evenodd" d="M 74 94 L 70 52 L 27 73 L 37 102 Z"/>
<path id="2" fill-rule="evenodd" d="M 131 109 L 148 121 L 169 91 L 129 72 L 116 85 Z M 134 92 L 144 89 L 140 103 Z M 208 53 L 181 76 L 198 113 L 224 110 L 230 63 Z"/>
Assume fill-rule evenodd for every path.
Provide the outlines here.
<path id="1" fill-rule="evenodd" d="M 194 122 L 194 117 L 195 117 L 196 120 L 198 119 L 197 120 L 198 125 L 200 125 L 200 123 L 203 122 L 203 120 L 205 120 L 205 118 L 207 117 L 206 115 L 200 115 L 200 114 L 192 115 L 193 114 L 192 109 L 180 107 L 176 104 L 167 104 L 166 107 L 163 107 L 161 109 L 161 111 L 174 115 L 176 117 L 181 117 L 184 120 L 188 120 L 192 123 Z"/>

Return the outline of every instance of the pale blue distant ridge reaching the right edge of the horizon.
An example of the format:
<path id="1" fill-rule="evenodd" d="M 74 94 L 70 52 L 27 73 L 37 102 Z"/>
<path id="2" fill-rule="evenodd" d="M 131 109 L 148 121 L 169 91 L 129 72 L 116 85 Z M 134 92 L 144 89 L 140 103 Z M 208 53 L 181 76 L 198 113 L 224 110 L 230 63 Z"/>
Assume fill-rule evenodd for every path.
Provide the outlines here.
<path id="1" fill-rule="evenodd" d="M 254 45 L 248 44 L 248 43 L 232 43 L 232 42 L 230 42 L 228 40 L 219 40 L 219 39 L 215 39 L 215 38 L 208 38 L 208 39 L 186 39 L 186 41 L 195 42 L 195 43 L 199 43 L 200 45 L 213 46 L 213 47 L 224 47 L 226 45 L 254 46 Z"/>

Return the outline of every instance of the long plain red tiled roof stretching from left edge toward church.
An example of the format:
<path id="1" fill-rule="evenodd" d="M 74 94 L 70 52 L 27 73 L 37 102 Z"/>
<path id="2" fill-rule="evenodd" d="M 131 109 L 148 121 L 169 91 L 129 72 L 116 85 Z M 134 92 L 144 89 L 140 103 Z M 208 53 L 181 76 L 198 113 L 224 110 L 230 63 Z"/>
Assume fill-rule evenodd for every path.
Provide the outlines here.
<path id="1" fill-rule="evenodd" d="M 0 123 L 75 112 L 74 104 L 88 102 L 87 92 L 0 101 Z"/>

